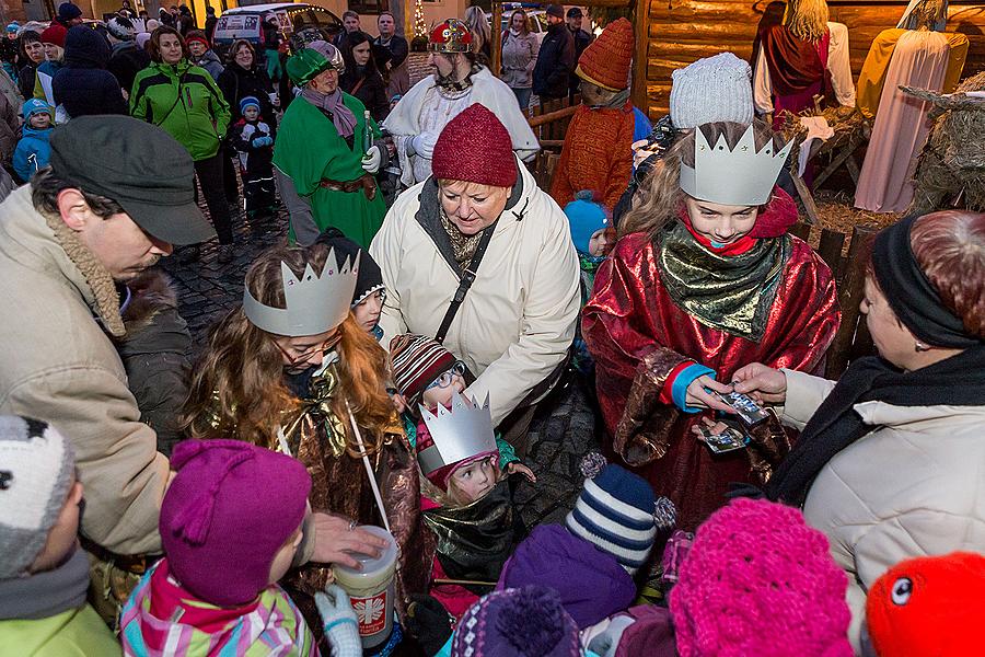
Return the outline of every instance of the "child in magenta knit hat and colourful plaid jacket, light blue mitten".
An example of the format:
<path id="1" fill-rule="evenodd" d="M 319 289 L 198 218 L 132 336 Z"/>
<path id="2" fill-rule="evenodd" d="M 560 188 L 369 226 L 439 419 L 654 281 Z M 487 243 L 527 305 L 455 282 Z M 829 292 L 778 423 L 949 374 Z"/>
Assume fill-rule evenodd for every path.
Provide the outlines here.
<path id="1" fill-rule="evenodd" d="M 161 505 L 165 557 L 120 614 L 125 655 L 317 655 L 301 612 L 277 585 L 301 542 L 311 476 L 299 461 L 240 440 L 186 440 Z M 262 494 L 257 494 L 262 492 Z M 340 588 L 320 593 L 334 655 L 361 655 Z M 343 620 L 345 619 L 345 620 Z"/>

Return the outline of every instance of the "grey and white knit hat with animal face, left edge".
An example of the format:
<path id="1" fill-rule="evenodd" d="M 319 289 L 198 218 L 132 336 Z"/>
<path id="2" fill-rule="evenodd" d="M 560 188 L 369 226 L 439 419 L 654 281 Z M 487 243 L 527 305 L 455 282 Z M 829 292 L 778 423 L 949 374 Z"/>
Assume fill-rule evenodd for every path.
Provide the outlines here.
<path id="1" fill-rule="evenodd" d="M 69 441 L 39 419 L 0 415 L 0 579 L 27 572 L 65 506 Z"/>

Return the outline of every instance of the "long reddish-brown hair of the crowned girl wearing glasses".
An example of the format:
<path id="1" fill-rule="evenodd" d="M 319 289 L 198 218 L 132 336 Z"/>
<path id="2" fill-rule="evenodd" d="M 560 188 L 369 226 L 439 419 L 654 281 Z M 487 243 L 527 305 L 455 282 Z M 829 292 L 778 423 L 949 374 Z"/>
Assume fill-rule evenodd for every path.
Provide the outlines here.
<path id="1" fill-rule="evenodd" d="M 327 255 L 324 244 L 274 246 L 250 267 L 246 286 L 262 303 L 285 308 L 280 263 L 300 277 L 308 264 L 321 272 Z M 348 422 L 348 401 L 367 450 L 372 453 L 380 448 L 383 428 L 394 417 L 385 385 L 386 353 L 351 312 L 338 330 L 339 381 L 332 411 L 346 427 L 349 453 L 359 456 Z M 301 401 L 283 383 L 282 355 L 274 337 L 277 336 L 254 326 L 242 307 L 230 311 L 212 328 L 182 415 L 182 426 L 188 434 L 235 436 L 264 447 L 276 445 L 285 414 L 297 411 Z"/>

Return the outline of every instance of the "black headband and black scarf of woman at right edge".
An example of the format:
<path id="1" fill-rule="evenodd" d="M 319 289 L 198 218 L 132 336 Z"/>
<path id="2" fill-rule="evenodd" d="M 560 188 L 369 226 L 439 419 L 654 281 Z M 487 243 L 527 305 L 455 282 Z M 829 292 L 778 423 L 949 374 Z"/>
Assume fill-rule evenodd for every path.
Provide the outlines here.
<path id="1" fill-rule="evenodd" d="M 985 345 L 965 332 L 960 318 L 941 304 L 937 290 L 919 268 L 909 243 L 915 220 L 916 217 L 908 217 L 876 238 L 876 279 L 890 308 L 911 333 L 931 345 L 964 350 L 909 372 L 876 356 L 854 361 L 769 480 L 766 496 L 770 499 L 802 506 L 821 469 L 839 451 L 879 428 L 862 423 L 856 404 L 985 404 Z"/>

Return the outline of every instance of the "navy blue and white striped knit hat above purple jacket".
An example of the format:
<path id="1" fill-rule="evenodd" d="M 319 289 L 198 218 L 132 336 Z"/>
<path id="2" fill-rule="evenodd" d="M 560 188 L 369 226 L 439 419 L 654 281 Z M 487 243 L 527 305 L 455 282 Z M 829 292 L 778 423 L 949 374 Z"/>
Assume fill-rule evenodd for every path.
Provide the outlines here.
<path id="1" fill-rule="evenodd" d="M 653 489 L 645 479 L 609 464 L 598 476 L 584 481 L 565 526 L 613 555 L 633 575 L 653 548 L 656 504 Z"/>

